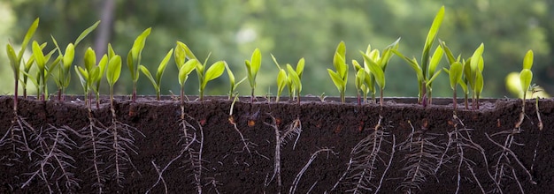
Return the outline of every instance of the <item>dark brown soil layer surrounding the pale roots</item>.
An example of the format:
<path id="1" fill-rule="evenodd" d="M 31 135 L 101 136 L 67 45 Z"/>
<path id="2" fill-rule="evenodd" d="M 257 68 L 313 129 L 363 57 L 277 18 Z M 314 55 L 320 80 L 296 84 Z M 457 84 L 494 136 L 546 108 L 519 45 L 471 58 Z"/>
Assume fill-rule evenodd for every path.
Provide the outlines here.
<path id="1" fill-rule="evenodd" d="M 135 137 L 137 153 L 127 150 L 135 168 L 127 165 L 120 172 L 123 178 L 119 179 L 121 182 L 118 185 L 112 175 L 115 165 L 113 158 L 107 153 L 101 155 L 97 161 L 101 168 L 100 174 L 104 177 L 101 181 L 104 184 L 103 191 L 144 193 L 151 189 L 151 193 L 164 193 L 162 179 L 157 183 L 159 173 L 155 165 L 161 171 L 168 164 L 161 177 L 169 193 L 195 193 L 198 188 L 202 188 L 204 193 L 277 193 L 278 190 L 288 193 L 292 186 L 296 186 L 298 193 L 343 193 L 351 192 L 357 185 L 365 185 L 367 190 L 363 193 L 373 193 L 377 188 L 381 193 L 409 189 L 418 193 L 454 193 L 458 183 L 460 193 L 481 193 L 482 190 L 499 192 L 498 188 L 504 193 L 519 193 L 519 185 L 526 193 L 548 193 L 554 190 L 554 101 L 550 99 L 539 103 L 544 126 L 542 131 L 538 127 L 535 101 L 527 102 L 526 117 L 520 128 L 515 127 L 521 112 L 520 100 L 482 101 L 479 110 L 466 110 L 460 106 L 457 113 L 459 120 L 453 119 L 450 101 L 447 100 L 437 100 L 437 105 L 423 108 L 414 100 L 395 99 L 388 100 L 382 109 L 375 104 L 358 106 L 356 100 L 350 101 L 346 104 L 330 100 L 303 101 L 299 105 L 296 102 L 268 103 L 262 98 L 254 103 L 245 99 L 237 101 L 233 119 L 250 146 L 249 153 L 244 149 L 240 134 L 229 121 L 232 101 L 208 99 L 185 103 L 189 135 L 196 135 L 196 142 L 189 146 L 189 150 L 184 150 L 178 101 L 142 98 L 131 103 L 119 99 L 115 103 L 117 120 L 136 128 L 136 131 L 129 129 Z M 12 106 L 12 97 L 0 97 L 2 137 L 16 125 L 12 123 Z M 102 101 L 100 108 L 93 108 L 92 113 L 98 123 L 105 127 L 111 125 L 112 113 L 107 99 Z M 65 170 L 74 175 L 71 179 L 78 186 L 67 186 L 61 168 L 57 168 L 53 160 L 49 163 L 52 168 L 47 168 L 50 171 L 44 172 L 46 181 L 39 176 L 31 178 L 40 167 L 37 160 L 44 157 L 41 150 L 48 151 L 55 142 L 55 138 L 48 138 L 47 129 L 66 126 L 79 131 L 89 124 L 88 109 L 83 101 L 77 101 L 75 97 L 68 97 L 61 102 L 19 99 L 18 114 L 37 131 L 38 136 L 46 137 L 47 146 L 30 144 L 34 152 L 31 152 L 32 157 L 29 159 L 26 150 L 13 151 L 12 144 L 4 138 L 4 144 L 0 144 L 0 193 L 43 193 L 48 191 L 46 183 L 50 184 L 54 192 L 98 192 L 96 176 L 91 169 L 91 153 L 85 152 L 83 146 L 87 140 L 71 130 L 65 131 L 68 134 L 65 141 L 73 139 L 75 146 L 60 149 L 74 160 L 65 159 L 73 165 Z M 381 152 L 372 155 L 368 149 L 373 146 L 366 145 L 368 149 L 360 148 L 360 152 L 352 153 L 358 142 L 371 138 L 378 123 L 378 130 L 385 134 L 382 136 Z M 281 187 L 277 175 L 273 177 L 277 140 L 272 124 L 281 131 L 287 131 L 291 124 L 301 126 L 299 136 L 292 133 L 289 138 L 285 138 L 286 144 L 281 145 Z M 516 132 L 514 128 L 520 131 Z M 462 149 L 457 149 L 455 144 L 448 144 L 448 134 L 456 129 L 464 130 L 458 135 L 466 137 L 466 140 L 459 138 L 458 141 L 450 142 L 458 142 L 463 145 Z M 506 133 L 496 134 L 503 131 Z M 512 139 L 513 143 L 505 147 L 509 150 L 506 149 L 503 156 L 503 148 L 494 144 L 487 135 L 499 145 L 504 146 L 506 139 Z M 32 142 L 37 135 L 33 136 L 32 132 L 27 131 L 26 136 Z M 469 137 L 473 142 L 467 140 Z M 418 139 L 427 140 L 423 153 L 418 152 Z M 112 145 L 107 147 L 109 150 Z M 314 155 L 315 158 L 305 168 L 301 179 L 293 183 L 312 154 L 325 148 L 333 152 Z M 198 162 L 190 160 L 190 156 L 197 157 L 200 149 L 201 169 L 197 167 Z M 460 151 L 464 152 L 469 162 L 468 166 L 458 168 Z M 182 157 L 177 158 L 180 153 L 183 153 Z M 371 160 L 373 158 L 376 160 Z M 418 158 L 422 160 L 416 160 Z M 352 165 L 347 171 L 350 159 L 358 165 Z M 440 159 L 442 162 L 439 162 Z M 498 160 L 501 162 L 498 163 Z M 419 173 L 422 174 L 419 178 L 413 178 L 410 172 L 418 165 Z M 467 167 L 471 167 L 471 170 Z M 498 176 L 496 185 L 493 181 L 496 168 L 501 167 L 504 167 L 504 174 Z M 429 170 L 431 168 L 435 170 Z M 531 176 L 527 175 L 526 170 Z M 372 176 L 369 175 L 370 171 Z M 358 182 L 361 175 L 365 175 L 365 181 Z M 27 183 L 30 178 L 31 181 Z M 332 190 L 335 184 L 337 186 Z"/>

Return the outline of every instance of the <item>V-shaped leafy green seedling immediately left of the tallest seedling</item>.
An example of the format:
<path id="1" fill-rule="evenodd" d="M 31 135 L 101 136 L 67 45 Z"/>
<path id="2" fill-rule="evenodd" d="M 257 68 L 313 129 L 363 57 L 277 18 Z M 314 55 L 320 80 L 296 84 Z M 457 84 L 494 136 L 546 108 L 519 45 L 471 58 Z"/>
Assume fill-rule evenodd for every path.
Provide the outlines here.
<path id="1" fill-rule="evenodd" d="M 362 56 L 364 57 L 364 62 L 368 64 L 367 67 L 369 68 L 369 72 L 373 75 L 375 82 L 380 87 L 381 108 L 383 106 L 383 91 L 385 90 L 385 70 L 387 69 L 387 65 L 389 64 L 390 58 L 392 57 L 392 50 L 396 50 L 398 48 L 399 41 L 400 38 L 390 44 L 387 48 L 383 49 L 383 53 L 381 56 L 378 49 L 373 49 L 369 53 L 369 56 L 360 51 L 360 54 L 362 54 Z"/>

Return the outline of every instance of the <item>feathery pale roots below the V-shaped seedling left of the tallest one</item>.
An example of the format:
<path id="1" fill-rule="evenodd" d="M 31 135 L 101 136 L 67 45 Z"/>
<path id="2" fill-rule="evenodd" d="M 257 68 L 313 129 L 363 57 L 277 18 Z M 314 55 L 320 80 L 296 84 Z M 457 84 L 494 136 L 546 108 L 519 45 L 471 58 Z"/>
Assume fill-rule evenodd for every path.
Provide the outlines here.
<path id="1" fill-rule="evenodd" d="M 373 128 L 373 132 L 360 140 L 350 151 L 348 167 L 329 192 L 335 190 L 339 184 L 348 179 L 349 193 L 365 193 L 368 191 L 379 192 L 385 175 L 395 155 L 396 138 L 392 135 L 392 141 L 387 140 L 391 135 L 384 131 L 381 125 L 382 117 Z M 382 150 L 382 146 L 390 145 L 390 153 Z M 389 158 L 386 160 L 386 158 Z M 377 175 L 377 169 L 384 168 L 381 177 Z M 347 176 L 348 175 L 348 176 Z"/>

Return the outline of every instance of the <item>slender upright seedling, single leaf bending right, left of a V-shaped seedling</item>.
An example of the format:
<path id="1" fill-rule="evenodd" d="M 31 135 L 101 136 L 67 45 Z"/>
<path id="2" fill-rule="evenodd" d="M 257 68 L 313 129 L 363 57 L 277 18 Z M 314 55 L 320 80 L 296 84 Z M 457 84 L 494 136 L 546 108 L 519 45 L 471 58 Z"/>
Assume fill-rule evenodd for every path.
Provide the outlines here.
<path id="1" fill-rule="evenodd" d="M 127 54 L 127 67 L 131 71 L 131 78 L 133 79 L 133 95 L 131 98 L 133 102 L 136 100 L 136 82 L 138 82 L 139 78 L 138 67 L 141 65 L 142 48 L 144 48 L 146 38 L 150 35 L 150 30 L 151 28 L 149 27 L 136 37 L 133 47 Z"/>

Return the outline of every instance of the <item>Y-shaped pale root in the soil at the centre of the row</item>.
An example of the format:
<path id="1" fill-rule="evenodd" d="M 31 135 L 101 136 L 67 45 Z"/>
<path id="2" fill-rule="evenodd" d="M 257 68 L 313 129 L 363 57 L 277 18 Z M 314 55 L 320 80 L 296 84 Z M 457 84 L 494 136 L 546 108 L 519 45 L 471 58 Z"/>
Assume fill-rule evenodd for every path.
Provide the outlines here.
<path id="1" fill-rule="evenodd" d="M 266 181 L 265 186 L 268 186 L 269 183 L 273 182 L 273 179 L 277 179 L 277 192 L 281 193 L 282 182 L 281 182 L 281 147 L 287 144 L 288 139 L 295 138 L 295 143 L 292 146 L 294 150 L 296 148 L 296 142 L 300 138 L 300 133 L 302 132 L 302 123 L 299 118 L 293 120 L 289 126 L 283 130 L 279 130 L 277 125 L 277 120 L 275 117 L 271 116 L 272 123 L 265 123 L 265 125 L 270 126 L 275 131 L 275 158 L 273 160 L 273 175 L 270 178 L 269 182 Z"/>

